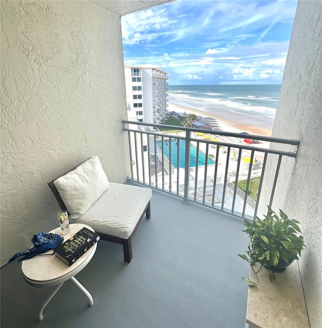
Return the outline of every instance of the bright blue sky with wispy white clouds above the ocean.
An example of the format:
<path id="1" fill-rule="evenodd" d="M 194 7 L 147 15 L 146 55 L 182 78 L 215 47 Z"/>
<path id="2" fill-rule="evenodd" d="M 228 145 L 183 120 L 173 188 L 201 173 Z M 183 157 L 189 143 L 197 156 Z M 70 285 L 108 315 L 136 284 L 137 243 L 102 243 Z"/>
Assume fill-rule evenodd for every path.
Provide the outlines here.
<path id="1" fill-rule="evenodd" d="M 281 84 L 297 1 L 177 0 L 122 17 L 124 64 L 170 85 Z"/>

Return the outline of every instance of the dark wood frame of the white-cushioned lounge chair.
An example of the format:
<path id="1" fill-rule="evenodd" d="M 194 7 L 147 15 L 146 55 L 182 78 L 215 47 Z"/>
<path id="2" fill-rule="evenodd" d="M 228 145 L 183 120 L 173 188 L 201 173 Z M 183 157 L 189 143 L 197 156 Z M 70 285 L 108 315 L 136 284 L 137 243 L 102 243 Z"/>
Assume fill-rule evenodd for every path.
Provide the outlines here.
<path id="1" fill-rule="evenodd" d="M 83 164 L 84 162 L 82 162 L 81 164 Z M 81 164 L 79 164 L 79 165 L 81 165 Z M 63 175 L 59 176 L 58 178 L 60 178 L 64 175 L 66 175 L 67 173 L 75 170 L 79 165 L 77 165 L 73 169 L 69 170 L 68 172 L 64 173 Z M 54 196 L 56 197 L 56 200 L 57 200 L 61 210 L 68 212 L 65 203 L 61 199 L 61 197 L 59 195 L 59 192 L 58 192 L 56 186 L 54 185 L 54 181 L 56 181 L 58 178 L 48 182 L 48 186 L 51 189 L 51 191 L 53 192 Z M 113 236 L 111 234 L 106 234 L 106 233 L 103 233 L 103 232 L 100 232 L 100 231 L 96 231 L 100 235 L 101 239 L 107 240 L 107 241 L 112 241 L 112 242 L 115 242 L 115 243 L 120 243 L 120 244 L 123 245 L 124 261 L 127 262 L 127 263 L 130 263 L 131 260 L 132 260 L 132 238 L 133 238 L 134 233 L 135 233 L 136 229 L 138 228 L 140 222 L 142 221 L 142 218 L 143 218 L 145 213 L 146 213 L 146 218 L 149 219 L 150 216 L 151 216 L 150 202 L 148 202 L 148 204 L 146 205 L 141 217 L 139 218 L 139 220 L 136 223 L 135 228 L 133 229 L 133 232 L 131 233 L 131 235 L 127 239 L 116 237 L 116 236 Z M 68 212 L 68 215 L 69 215 L 69 212 Z"/>

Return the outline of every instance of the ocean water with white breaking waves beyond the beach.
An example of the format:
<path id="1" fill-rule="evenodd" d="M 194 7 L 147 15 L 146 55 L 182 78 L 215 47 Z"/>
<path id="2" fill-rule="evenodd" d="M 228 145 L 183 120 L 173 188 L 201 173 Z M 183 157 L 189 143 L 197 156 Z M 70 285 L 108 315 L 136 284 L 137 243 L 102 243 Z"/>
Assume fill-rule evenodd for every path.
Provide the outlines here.
<path id="1" fill-rule="evenodd" d="M 280 85 L 169 86 L 169 101 L 201 108 L 275 118 Z"/>

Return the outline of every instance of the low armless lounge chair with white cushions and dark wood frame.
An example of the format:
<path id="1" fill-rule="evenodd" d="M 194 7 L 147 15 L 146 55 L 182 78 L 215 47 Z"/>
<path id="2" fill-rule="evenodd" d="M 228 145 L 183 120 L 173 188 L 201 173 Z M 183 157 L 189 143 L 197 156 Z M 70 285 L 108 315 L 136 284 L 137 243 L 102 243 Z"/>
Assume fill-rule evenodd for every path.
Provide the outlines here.
<path id="1" fill-rule="evenodd" d="M 149 219 L 149 188 L 110 183 L 93 156 L 48 183 L 69 223 L 90 225 L 103 240 L 123 244 L 124 261 L 132 260 L 132 237 L 144 214 Z"/>

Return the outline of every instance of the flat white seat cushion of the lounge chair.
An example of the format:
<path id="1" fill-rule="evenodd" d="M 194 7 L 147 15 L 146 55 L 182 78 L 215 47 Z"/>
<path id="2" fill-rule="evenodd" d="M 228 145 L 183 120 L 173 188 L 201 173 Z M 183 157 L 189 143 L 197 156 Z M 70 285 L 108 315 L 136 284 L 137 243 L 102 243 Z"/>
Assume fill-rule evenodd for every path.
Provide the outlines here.
<path id="1" fill-rule="evenodd" d="M 149 188 L 110 183 L 109 189 L 71 223 L 88 224 L 95 231 L 127 239 L 151 197 Z"/>

